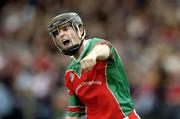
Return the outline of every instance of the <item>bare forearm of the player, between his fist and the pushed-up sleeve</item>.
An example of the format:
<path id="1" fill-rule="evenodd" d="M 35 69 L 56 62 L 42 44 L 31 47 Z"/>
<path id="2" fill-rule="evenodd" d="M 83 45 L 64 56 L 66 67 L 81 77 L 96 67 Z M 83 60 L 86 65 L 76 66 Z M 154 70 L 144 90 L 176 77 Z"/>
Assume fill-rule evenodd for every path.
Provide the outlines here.
<path id="1" fill-rule="evenodd" d="M 90 52 L 91 55 L 95 55 L 97 60 L 106 60 L 109 57 L 110 48 L 108 45 L 97 45 Z"/>

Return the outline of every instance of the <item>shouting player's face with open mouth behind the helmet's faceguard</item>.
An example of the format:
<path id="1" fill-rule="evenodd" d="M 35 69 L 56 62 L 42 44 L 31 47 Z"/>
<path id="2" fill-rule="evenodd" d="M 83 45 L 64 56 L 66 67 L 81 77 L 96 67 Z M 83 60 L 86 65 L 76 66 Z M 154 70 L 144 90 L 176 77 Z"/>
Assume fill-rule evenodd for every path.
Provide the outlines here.
<path id="1" fill-rule="evenodd" d="M 77 32 L 71 26 L 61 26 L 52 30 L 55 44 L 60 49 L 66 49 L 73 45 L 80 44 L 81 40 Z"/>

